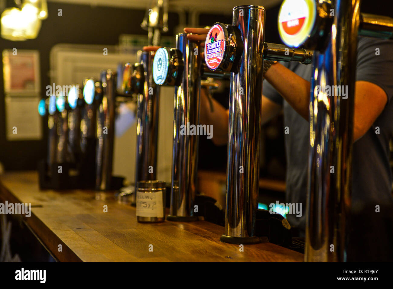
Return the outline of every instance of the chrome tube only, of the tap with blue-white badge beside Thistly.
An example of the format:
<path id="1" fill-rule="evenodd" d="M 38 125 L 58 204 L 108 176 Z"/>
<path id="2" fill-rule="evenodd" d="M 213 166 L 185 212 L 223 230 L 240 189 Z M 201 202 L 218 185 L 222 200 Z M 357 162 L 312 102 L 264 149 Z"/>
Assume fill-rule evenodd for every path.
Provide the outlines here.
<path id="1" fill-rule="evenodd" d="M 199 123 L 200 44 L 176 36 L 176 49 L 183 56 L 184 71 L 180 86 L 175 86 L 171 206 L 168 220 L 195 221 L 194 199 L 198 162 L 198 135 L 182 135 L 180 128 L 187 123 Z M 198 49 L 198 50 L 196 50 Z"/>

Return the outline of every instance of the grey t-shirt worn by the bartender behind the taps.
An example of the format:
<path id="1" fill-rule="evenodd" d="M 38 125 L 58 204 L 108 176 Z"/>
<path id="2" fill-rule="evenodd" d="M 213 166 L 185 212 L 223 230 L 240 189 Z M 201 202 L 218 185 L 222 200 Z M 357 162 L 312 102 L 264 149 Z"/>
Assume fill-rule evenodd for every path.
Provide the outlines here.
<path id="1" fill-rule="evenodd" d="M 376 55 L 376 48 L 379 55 Z M 283 63 L 305 80 L 310 81 L 312 64 Z M 384 204 L 393 208 L 392 172 L 389 165 L 389 139 L 393 134 L 393 41 L 360 37 L 356 80 L 372 82 L 387 94 L 387 104 L 366 134 L 353 145 L 353 191 L 351 212 L 362 214 L 365 207 Z M 266 81 L 263 95 L 282 104 L 286 148 L 286 203 L 302 203 L 303 216 L 287 215 L 292 227 L 300 236 L 305 230 L 305 206 L 307 198 L 309 122 L 303 119 L 281 95 Z M 370 95 L 370 97 L 373 97 Z M 262 104 L 263 105 L 263 104 Z M 379 134 L 376 134 L 376 126 Z M 366 229 L 365 229 L 366 230 Z"/>

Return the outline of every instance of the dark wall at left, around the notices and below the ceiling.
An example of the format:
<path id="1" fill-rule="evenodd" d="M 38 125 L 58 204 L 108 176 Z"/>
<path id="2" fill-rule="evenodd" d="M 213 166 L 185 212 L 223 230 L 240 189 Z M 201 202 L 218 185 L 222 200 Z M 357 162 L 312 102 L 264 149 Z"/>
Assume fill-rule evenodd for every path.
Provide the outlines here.
<path id="1" fill-rule="evenodd" d="M 62 16 L 58 16 L 62 9 Z M 3 49 L 35 49 L 40 54 L 41 94 L 45 96 L 49 84 L 49 54 L 58 43 L 105 44 L 115 45 L 119 35 L 143 34 L 140 24 L 145 10 L 121 9 L 114 7 L 91 7 L 89 5 L 72 5 L 48 3 L 49 16 L 42 21 L 39 36 L 33 40 L 14 42 L 0 38 Z M 169 15 L 169 33 L 178 23 L 178 15 Z M 3 68 L 0 61 L 0 161 L 6 169 L 35 169 L 39 159 L 46 153 L 46 130 L 41 141 L 6 141 Z M 34 108 L 36 109 L 36 108 Z M 38 113 L 38 112 L 37 112 Z M 42 126 L 47 119 L 42 120 Z"/>

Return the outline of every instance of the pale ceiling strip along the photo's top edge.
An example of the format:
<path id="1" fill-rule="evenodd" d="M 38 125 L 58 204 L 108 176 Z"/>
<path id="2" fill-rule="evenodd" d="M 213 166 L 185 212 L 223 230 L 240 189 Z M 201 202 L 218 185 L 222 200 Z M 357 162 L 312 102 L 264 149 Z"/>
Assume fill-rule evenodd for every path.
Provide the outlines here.
<path id="1" fill-rule="evenodd" d="M 146 9 L 151 0 L 48 0 L 48 2 Z M 169 0 L 169 9 L 197 9 L 200 12 L 220 14 L 231 13 L 233 7 L 238 5 L 261 5 L 269 8 L 281 2 L 282 0 Z"/>

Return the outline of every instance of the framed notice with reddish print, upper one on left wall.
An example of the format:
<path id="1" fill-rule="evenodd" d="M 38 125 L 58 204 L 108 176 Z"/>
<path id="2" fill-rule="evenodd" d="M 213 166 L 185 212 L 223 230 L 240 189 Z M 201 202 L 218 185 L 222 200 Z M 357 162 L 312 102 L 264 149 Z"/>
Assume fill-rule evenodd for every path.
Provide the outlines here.
<path id="1" fill-rule="evenodd" d="M 37 50 L 3 50 L 4 92 L 6 95 L 35 95 L 40 92 Z"/>

